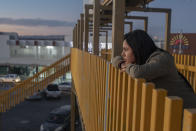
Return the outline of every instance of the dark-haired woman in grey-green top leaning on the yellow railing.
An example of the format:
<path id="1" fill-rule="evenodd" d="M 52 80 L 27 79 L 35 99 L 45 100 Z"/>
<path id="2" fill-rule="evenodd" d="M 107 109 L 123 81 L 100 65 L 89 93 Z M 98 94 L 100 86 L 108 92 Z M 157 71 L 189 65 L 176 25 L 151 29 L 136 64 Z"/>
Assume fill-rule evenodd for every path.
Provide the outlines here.
<path id="1" fill-rule="evenodd" d="M 168 91 L 168 96 L 179 96 L 184 107 L 196 107 L 196 95 L 188 81 L 177 71 L 173 57 L 157 48 L 150 36 L 143 30 L 135 30 L 124 36 L 121 56 L 112 63 L 134 78 L 153 82 L 156 88 Z"/>

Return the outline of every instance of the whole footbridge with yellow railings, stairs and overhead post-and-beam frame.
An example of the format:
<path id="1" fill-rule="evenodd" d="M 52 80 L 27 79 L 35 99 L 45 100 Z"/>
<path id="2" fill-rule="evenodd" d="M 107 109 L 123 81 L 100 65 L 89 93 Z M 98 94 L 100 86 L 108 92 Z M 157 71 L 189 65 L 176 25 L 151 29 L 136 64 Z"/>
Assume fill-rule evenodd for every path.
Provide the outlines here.
<path id="1" fill-rule="evenodd" d="M 150 1 L 144 0 L 143 2 Z M 104 24 L 111 23 L 111 17 L 113 21 L 112 56 L 118 55 L 122 48 L 123 25 L 127 24 L 124 21 L 125 18 L 145 20 L 144 27 L 147 31 L 146 17 L 124 17 L 125 11 L 166 13 L 165 49 L 167 50 L 171 9 L 141 8 L 139 5 L 145 5 L 145 3 L 142 4 L 142 0 L 139 2 L 126 0 L 128 5 L 129 2 L 133 2 L 131 8 L 127 6 L 125 8 L 125 1 L 104 0 L 103 2 L 106 6 L 98 6 L 99 3 L 96 2 L 93 5 L 94 8 L 92 5 L 85 6 L 85 14 L 81 14 L 81 19 L 78 20 L 73 30 L 74 48 L 71 49 L 71 54 L 14 88 L 1 92 L 0 111 L 9 111 L 16 104 L 23 102 L 25 97 L 43 90 L 46 85 L 67 71 L 71 71 L 73 80 L 72 131 L 74 131 L 75 103 L 79 108 L 83 130 L 86 131 L 196 131 L 196 109 L 183 109 L 181 98 L 167 96 L 166 90 L 156 89 L 153 83 L 146 83 L 144 79 L 135 79 L 125 72 L 120 72 L 108 60 L 99 56 L 99 32 L 111 30 L 111 28 L 103 28 L 104 26 L 111 27 L 110 24 Z M 111 8 L 111 2 L 113 2 L 113 8 Z M 89 14 L 90 9 L 94 9 L 93 14 Z M 112 16 L 111 12 L 113 12 Z M 100 16 L 100 14 L 103 15 Z M 93 28 L 90 22 L 91 24 L 93 22 Z M 131 25 L 130 22 L 128 24 Z M 99 27 L 100 25 L 102 27 Z M 88 36 L 92 29 L 94 54 L 88 53 Z M 196 92 L 196 57 L 177 54 L 173 56 L 177 68 Z"/>

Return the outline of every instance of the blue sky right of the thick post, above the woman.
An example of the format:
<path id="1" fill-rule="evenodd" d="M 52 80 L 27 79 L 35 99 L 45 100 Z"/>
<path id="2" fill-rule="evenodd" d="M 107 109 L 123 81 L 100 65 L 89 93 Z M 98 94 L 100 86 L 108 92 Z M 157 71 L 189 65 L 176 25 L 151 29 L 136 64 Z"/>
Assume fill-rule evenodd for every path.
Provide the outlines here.
<path id="1" fill-rule="evenodd" d="M 171 8 L 171 32 L 181 30 L 183 33 L 196 33 L 196 1 L 195 0 L 154 0 L 149 7 Z M 133 15 L 149 16 L 149 33 L 164 38 L 165 14 L 164 13 L 130 13 Z M 143 28 L 143 21 L 135 21 L 134 29 Z"/>

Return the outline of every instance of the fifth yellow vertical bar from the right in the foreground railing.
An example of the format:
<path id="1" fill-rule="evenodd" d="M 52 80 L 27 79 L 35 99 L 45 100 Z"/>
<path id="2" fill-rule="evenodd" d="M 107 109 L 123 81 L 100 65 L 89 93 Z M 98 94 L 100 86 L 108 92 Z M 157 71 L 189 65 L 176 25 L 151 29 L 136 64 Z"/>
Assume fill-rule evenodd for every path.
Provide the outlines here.
<path id="1" fill-rule="evenodd" d="M 133 101 L 133 131 L 140 130 L 140 117 L 141 117 L 141 94 L 142 84 L 145 82 L 143 79 L 135 79 L 134 83 L 134 101 Z"/>

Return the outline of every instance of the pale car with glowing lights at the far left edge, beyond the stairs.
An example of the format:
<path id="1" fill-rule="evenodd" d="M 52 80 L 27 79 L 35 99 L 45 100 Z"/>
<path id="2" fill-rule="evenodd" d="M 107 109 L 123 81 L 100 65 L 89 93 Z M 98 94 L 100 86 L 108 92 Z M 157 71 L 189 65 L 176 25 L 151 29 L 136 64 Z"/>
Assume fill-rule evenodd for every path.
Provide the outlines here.
<path id="1" fill-rule="evenodd" d="M 17 74 L 7 74 L 0 78 L 0 82 L 20 82 L 21 79 Z"/>

